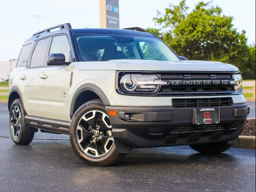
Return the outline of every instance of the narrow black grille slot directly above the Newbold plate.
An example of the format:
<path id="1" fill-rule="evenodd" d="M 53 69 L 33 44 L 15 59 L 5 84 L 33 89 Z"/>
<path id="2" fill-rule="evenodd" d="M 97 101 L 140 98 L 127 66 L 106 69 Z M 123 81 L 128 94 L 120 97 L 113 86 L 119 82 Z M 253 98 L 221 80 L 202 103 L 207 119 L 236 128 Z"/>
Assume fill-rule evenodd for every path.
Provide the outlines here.
<path id="1" fill-rule="evenodd" d="M 232 98 L 172 99 L 173 108 L 232 106 Z"/>

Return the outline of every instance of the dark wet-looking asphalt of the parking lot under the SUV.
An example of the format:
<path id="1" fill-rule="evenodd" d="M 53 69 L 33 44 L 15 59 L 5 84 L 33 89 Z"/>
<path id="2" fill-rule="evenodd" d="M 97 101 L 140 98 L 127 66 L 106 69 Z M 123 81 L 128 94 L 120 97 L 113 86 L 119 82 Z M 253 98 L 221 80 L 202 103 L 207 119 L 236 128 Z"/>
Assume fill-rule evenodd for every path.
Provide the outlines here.
<path id="1" fill-rule="evenodd" d="M 255 150 L 203 155 L 189 146 L 134 149 L 114 166 L 88 166 L 66 135 L 38 132 L 30 145 L 15 145 L 7 105 L 0 104 L 0 191 L 253 192 Z"/>

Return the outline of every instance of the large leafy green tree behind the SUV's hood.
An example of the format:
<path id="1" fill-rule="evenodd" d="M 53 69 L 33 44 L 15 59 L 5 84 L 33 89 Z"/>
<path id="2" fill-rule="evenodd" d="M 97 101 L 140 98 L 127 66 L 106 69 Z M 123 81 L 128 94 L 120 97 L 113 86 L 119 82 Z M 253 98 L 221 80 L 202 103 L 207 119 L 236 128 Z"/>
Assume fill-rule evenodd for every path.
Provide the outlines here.
<path id="1" fill-rule="evenodd" d="M 255 79 L 255 45 L 248 46 L 245 31 L 237 32 L 231 16 L 219 6 L 199 2 L 188 12 L 186 1 L 170 4 L 153 20 L 160 29 L 149 28 L 179 55 L 188 60 L 214 60 L 240 68 L 245 79 Z"/>

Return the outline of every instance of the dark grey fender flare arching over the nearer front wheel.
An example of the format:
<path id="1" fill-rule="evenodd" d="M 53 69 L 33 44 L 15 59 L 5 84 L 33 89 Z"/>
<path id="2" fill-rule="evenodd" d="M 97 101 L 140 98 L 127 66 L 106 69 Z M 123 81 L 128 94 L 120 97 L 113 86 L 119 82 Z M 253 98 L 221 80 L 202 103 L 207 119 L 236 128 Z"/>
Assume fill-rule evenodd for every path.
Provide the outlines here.
<path id="1" fill-rule="evenodd" d="M 104 105 L 110 106 L 108 98 L 106 97 L 104 92 L 98 86 L 96 86 L 94 84 L 91 84 L 91 83 L 86 83 L 86 84 L 81 85 L 76 90 L 76 92 L 74 93 L 74 96 L 72 98 L 72 102 L 71 102 L 71 105 L 70 105 L 70 118 L 71 119 L 72 119 L 72 117 L 74 115 L 73 111 L 74 111 L 74 105 L 75 105 L 76 99 L 84 91 L 92 91 L 92 92 L 94 92 L 95 94 L 97 94 L 100 97 L 100 99 L 102 100 Z"/>

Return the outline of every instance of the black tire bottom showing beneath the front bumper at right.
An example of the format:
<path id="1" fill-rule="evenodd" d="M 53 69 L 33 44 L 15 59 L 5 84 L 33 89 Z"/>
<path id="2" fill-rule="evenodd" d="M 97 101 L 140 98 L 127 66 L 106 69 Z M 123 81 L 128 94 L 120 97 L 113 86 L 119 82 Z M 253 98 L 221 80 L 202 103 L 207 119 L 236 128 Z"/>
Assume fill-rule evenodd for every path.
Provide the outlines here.
<path id="1" fill-rule="evenodd" d="M 228 144 L 227 142 L 190 145 L 192 149 L 204 154 L 219 154 L 230 149 L 232 146 L 233 144 Z"/>

